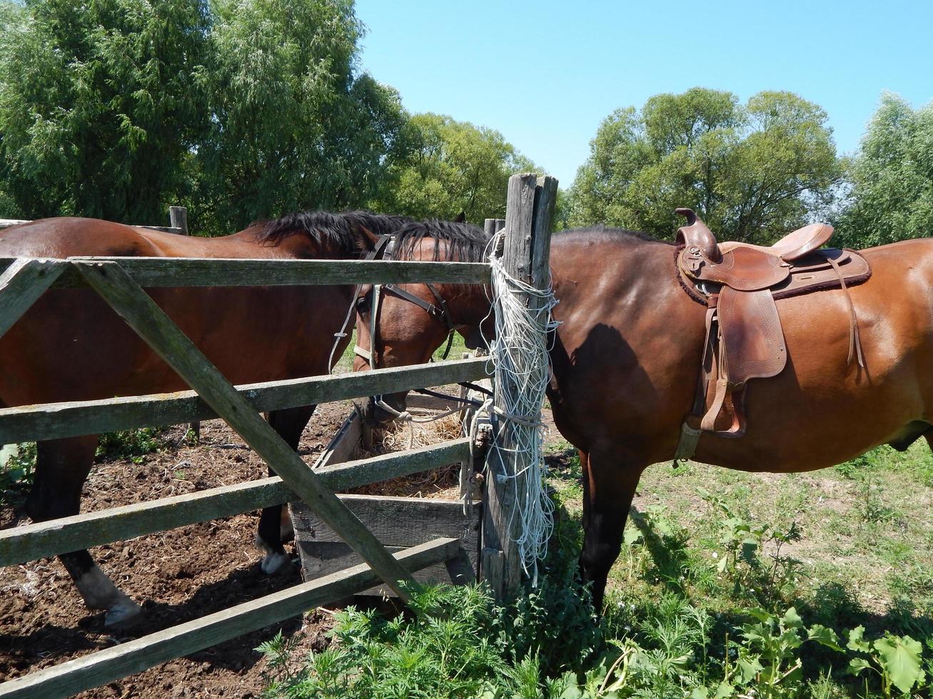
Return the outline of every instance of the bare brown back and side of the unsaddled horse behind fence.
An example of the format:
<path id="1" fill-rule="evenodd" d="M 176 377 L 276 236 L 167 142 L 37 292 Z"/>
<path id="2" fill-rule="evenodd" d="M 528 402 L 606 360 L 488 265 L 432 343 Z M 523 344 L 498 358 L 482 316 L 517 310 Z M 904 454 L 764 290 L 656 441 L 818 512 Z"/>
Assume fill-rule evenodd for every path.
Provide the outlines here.
<path id="1" fill-rule="evenodd" d="M 297 256 L 303 236 L 257 244 L 247 229 L 220 239 L 178 236 L 81 218 L 0 231 L 0 257 L 72 255 Z M 348 300 L 337 287 L 191 287 L 147 291 L 234 383 L 327 372 Z M 0 337 L 0 401 L 92 400 L 187 388 L 90 289 L 50 289 Z"/>

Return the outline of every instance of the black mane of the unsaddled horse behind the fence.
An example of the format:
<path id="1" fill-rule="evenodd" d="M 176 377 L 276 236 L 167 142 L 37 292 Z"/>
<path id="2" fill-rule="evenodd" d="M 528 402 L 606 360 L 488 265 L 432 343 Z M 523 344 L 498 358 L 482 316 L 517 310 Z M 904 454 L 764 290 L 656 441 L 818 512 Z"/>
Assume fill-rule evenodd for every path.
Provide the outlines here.
<path id="1" fill-rule="evenodd" d="M 261 223 L 261 222 L 258 222 Z M 317 242 L 327 240 L 345 253 L 357 251 L 355 231 L 360 226 L 377 236 L 394 233 L 398 228 L 415 223 L 407 216 L 387 213 L 356 212 L 296 212 L 288 213 L 274 221 L 265 222 L 259 233 L 259 242 L 273 245 L 295 233 L 306 233 Z M 251 224 L 258 225 L 258 224 Z"/>

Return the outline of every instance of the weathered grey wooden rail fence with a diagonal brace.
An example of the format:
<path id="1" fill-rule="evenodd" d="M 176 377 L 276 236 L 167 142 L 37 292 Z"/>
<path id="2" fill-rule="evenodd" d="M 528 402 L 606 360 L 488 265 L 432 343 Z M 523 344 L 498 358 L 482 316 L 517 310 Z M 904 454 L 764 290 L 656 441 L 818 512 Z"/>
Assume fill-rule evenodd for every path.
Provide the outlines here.
<path id="1" fill-rule="evenodd" d="M 521 178 L 525 206 L 534 207 L 540 199 L 545 211 L 552 210 L 556 181 L 548 178 L 542 188 L 536 187 L 534 175 L 516 175 L 513 180 L 515 178 Z M 527 196 L 529 186 L 530 199 Z M 532 215 L 536 212 L 536 209 L 529 209 L 522 216 L 512 218 L 531 221 L 538 218 Z M 542 220 L 545 228 L 550 228 L 550 220 L 547 217 Z M 506 226 L 508 228 L 508 221 Z M 516 225 L 514 233 L 509 233 L 511 238 L 522 238 L 511 247 L 525 251 L 512 254 L 509 264 L 514 274 L 526 279 L 532 279 L 528 270 L 540 267 L 542 254 L 540 244 L 532 246 L 537 260 L 528 248 L 535 239 L 529 226 L 531 224 Z M 519 259 L 521 254 L 525 254 L 523 260 Z M 547 265 L 546 248 L 543 254 Z M 314 606 L 361 592 L 380 581 L 387 583 L 402 599 L 407 599 L 399 583 L 411 580 L 411 571 L 461 557 L 460 542 L 453 538 L 430 541 L 394 555 L 388 553 L 383 544 L 350 513 L 334 490 L 363 486 L 468 459 L 468 440 L 458 439 L 374 459 L 350 461 L 314 472 L 288 448 L 259 413 L 476 380 L 486 376 L 486 358 L 232 386 L 143 291 L 144 288 L 160 286 L 413 281 L 485 284 L 490 281 L 490 268 L 486 264 L 470 263 L 358 260 L 0 259 L 0 335 L 6 333 L 46 290 L 87 286 L 101 295 L 193 389 L 171 394 L 0 409 L 0 444 L 219 417 L 224 418 L 246 444 L 279 474 L 279 477 L 6 529 L 0 531 L 0 565 L 16 565 L 38 557 L 131 539 L 296 499 L 308 505 L 368 564 L 7 681 L 0 684 L 0 697 L 68 696 L 284 621 Z M 508 506 L 508 494 L 496 502 L 496 512 L 502 512 L 502 508 Z M 508 527 L 508 522 L 491 526 Z M 499 544 L 499 541 L 506 543 Z M 500 557 L 508 561 L 507 529 L 489 537 L 487 542 L 489 546 L 498 545 L 506 551 L 502 556 L 484 552 L 485 558 Z M 509 566 L 500 565 L 495 569 L 501 571 L 509 569 Z M 517 578 L 508 578 L 508 583 L 501 580 L 493 580 L 492 583 L 495 589 L 502 591 L 513 589 L 516 581 Z"/>

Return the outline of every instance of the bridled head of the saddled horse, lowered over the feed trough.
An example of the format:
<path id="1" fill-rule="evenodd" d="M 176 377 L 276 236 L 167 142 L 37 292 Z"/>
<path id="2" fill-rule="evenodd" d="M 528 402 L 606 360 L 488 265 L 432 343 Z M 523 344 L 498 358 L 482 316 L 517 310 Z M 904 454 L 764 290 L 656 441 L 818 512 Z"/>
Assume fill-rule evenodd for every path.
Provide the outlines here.
<path id="1" fill-rule="evenodd" d="M 428 221 L 399 230 L 386 258 L 477 262 L 488 236 L 463 223 Z M 356 304 L 354 371 L 426 363 L 454 331 L 466 346 L 482 343 L 481 326 L 489 313 L 485 290 L 475 284 L 385 284 L 361 289 Z M 408 391 L 356 401 L 370 426 L 405 412 Z"/>

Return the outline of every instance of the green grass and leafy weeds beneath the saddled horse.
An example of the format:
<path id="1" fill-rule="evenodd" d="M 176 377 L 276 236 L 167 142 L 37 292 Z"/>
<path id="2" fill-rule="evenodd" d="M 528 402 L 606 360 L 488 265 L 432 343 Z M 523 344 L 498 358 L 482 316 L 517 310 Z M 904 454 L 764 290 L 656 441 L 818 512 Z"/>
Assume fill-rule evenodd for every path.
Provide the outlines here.
<path id="1" fill-rule="evenodd" d="M 560 457 L 550 485 L 561 515 L 541 590 L 491 612 L 492 602 L 475 590 L 449 588 L 429 593 L 444 596 L 445 608 L 414 618 L 375 622 L 349 612 L 327 651 L 342 659 L 336 674 L 336 661 L 313 656 L 301 666 L 303 685 L 279 676 L 271 694 L 400 696 L 390 688 L 417 669 L 431 678 L 424 695 L 432 697 L 930 695 L 933 459 L 926 444 L 903 455 L 877 449 L 815 473 L 651 467 L 598 624 L 580 623 L 589 620 L 586 593 L 573 581 L 582 538 L 579 462 L 564 442 L 549 452 Z M 469 609 L 475 613 L 460 613 Z M 411 637 L 348 640 L 347 630 L 364 623 Z M 446 637 L 437 636 L 441 630 Z M 458 644 L 468 651 L 453 651 Z M 456 665 L 464 668 L 475 649 L 499 651 L 445 676 L 451 655 L 444 648 L 466 653 Z M 284 666 L 284 656 L 265 650 Z M 325 680 L 339 689 L 322 692 Z"/>

